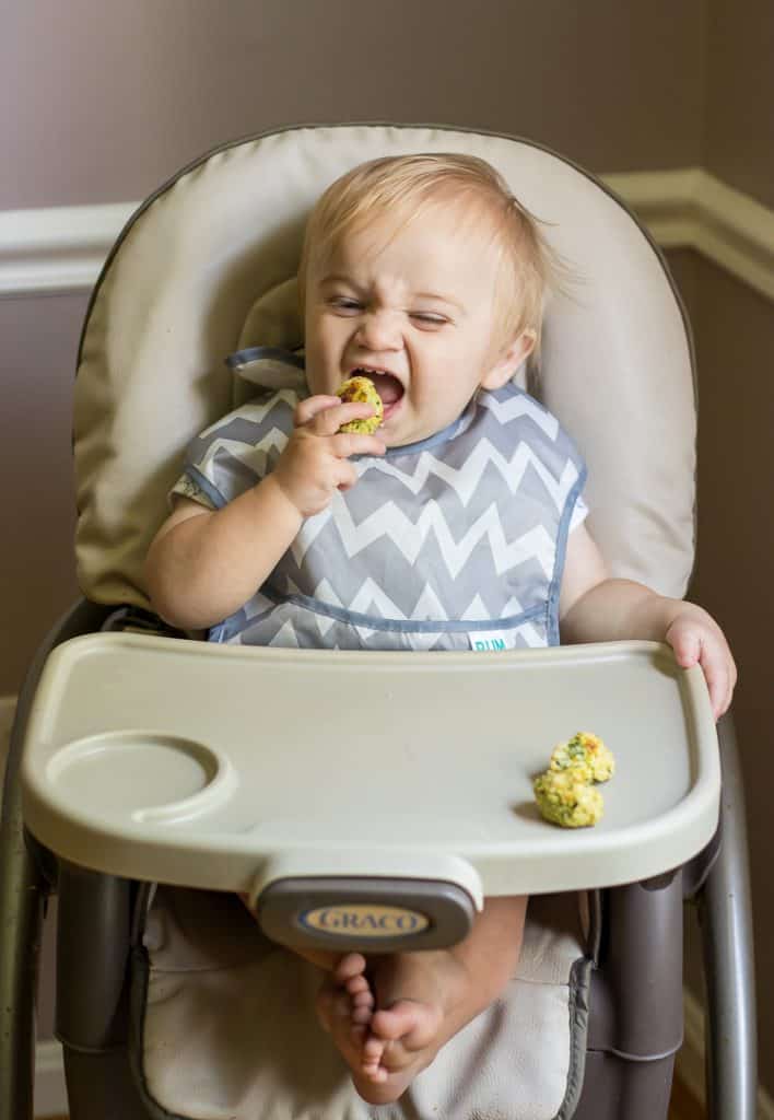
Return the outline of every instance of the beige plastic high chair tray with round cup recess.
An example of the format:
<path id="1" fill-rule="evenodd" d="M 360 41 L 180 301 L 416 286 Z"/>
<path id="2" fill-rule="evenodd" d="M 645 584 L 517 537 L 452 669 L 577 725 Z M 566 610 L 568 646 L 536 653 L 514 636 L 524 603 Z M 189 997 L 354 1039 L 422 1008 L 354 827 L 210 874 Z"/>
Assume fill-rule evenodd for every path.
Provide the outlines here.
<path id="1" fill-rule="evenodd" d="M 617 771 L 600 823 L 560 829 L 532 778 L 578 730 Z M 32 834 L 95 870 L 225 890 L 429 877 L 479 905 L 680 866 L 716 829 L 720 768 L 701 672 L 655 643 L 402 654 L 96 634 L 46 664 L 22 790 Z"/>

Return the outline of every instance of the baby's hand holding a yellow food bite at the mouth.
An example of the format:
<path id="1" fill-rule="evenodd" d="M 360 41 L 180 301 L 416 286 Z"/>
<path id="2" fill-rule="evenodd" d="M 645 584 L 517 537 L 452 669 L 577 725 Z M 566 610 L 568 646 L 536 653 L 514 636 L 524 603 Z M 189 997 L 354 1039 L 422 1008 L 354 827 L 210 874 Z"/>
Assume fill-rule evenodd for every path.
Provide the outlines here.
<path id="1" fill-rule="evenodd" d="M 351 455 L 384 455 L 376 436 L 341 432 L 343 423 L 373 416 L 370 404 L 343 404 L 338 396 L 308 396 L 293 417 L 295 429 L 277 460 L 271 477 L 302 517 L 311 517 L 330 503 L 337 489 L 357 482 Z"/>

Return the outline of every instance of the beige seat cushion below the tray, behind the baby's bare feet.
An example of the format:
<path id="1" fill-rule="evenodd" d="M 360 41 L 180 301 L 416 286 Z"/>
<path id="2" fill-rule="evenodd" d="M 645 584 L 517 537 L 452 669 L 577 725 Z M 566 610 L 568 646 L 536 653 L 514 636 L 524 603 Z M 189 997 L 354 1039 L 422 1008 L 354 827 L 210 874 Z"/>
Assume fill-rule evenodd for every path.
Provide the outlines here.
<path id="1" fill-rule="evenodd" d="M 576 896 L 530 900 L 516 976 L 393 1105 L 366 1104 L 319 1026 L 323 973 L 233 896 L 159 888 L 136 958 L 146 1099 L 190 1120 L 550 1120 L 582 1082 L 588 962 Z M 147 953 L 147 959 L 146 959 Z"/>

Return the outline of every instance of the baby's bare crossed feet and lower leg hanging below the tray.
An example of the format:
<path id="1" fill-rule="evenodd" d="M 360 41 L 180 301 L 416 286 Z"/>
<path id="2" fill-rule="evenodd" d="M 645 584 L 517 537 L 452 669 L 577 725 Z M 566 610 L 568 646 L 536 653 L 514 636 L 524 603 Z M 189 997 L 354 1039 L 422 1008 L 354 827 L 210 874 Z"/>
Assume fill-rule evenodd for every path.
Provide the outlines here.
<path id="1" fill-rule="evenodd" d="M 489 898 L 459 944 L 372 959 L 371 986 L 360 954 L 342 961 L 320 1018 L 361 1096 L 372 1104 L 398 1100 L 441 1046 L 501 995 L 519 961 L 525 908 L 525 897 Z"/>

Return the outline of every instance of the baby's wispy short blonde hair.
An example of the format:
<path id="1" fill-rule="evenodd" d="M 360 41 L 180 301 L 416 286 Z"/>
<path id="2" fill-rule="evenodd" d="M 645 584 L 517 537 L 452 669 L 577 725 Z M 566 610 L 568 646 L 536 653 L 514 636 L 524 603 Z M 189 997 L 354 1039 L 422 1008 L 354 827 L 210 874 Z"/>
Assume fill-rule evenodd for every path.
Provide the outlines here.
<path id="1" fill-rule="evenodd" d="M 450 153 L 374 159 L 336 179 L 315 205 L 307 224 L 298 279 L 301 304 L 309 268 L 326 256 L 349 230 L 389 215 L 409 225 L 429 207 L 449 202 L 478 222 L 498 251 L 497 344 L 524 330 L 540 345 L 543 305 L 560 269 L 538 218 L 511 193 L 485 160 Z"/>

